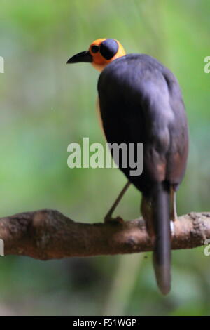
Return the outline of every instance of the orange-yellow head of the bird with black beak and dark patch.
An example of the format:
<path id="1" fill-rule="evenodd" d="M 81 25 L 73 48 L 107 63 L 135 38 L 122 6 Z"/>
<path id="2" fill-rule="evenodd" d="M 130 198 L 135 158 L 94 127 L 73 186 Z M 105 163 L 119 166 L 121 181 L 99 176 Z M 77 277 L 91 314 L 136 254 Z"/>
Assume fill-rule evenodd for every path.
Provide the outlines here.
<path id="1" fill-rule="evenodd" d="M 88 51 L 73 55 L 67 63 L 90 62 L 95 69 L 102 71 L 110 62 L 124 55 L 125 49 L 118 40 L 97 39 L 92 42 Z"/>

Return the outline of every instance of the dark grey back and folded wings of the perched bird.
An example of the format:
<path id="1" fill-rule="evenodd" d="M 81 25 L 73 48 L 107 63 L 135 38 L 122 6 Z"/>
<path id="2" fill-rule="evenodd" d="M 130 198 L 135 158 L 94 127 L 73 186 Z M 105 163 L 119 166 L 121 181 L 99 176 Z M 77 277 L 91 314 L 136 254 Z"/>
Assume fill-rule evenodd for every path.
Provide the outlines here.
<path id="1" fill-rule="evenodd" d="M 130 177 L 147 193 L 153 183 L 179 185 L 186 168 L 188 127 L 178 81 L 144 54 L 118 58 L 98 82 L 99 107 L 109 143 L 143 143 L 143 173 Z"/>

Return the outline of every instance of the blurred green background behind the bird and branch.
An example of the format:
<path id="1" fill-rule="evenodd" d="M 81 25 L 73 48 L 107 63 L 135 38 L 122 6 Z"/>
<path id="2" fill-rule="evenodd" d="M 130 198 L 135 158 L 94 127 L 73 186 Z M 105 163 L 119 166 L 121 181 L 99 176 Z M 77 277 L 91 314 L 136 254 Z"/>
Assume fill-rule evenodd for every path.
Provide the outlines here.
<path id="1" fill-rule="evenodd" d="M 148 53 L 178 77 L 188 112 L 190 157 L 179 214 L 209 211 L 208 0 L 1 0 L 1 216 L 57 209 L 99 222 L 126 180 L 118 169 L 69 169 L 67 145 L 103 142 L 95 112 L 99 73 L 66 65 L 101 37 Z M 116 214 L 139 216 L 134 187 Z M 172 292 L 163 297 L 151 253 L 38 261 L 0 258 L 0 315 L 209 315 L 210 257 L 173 252 Z M 146 258 L 145 258 L 146 257 Z"/>

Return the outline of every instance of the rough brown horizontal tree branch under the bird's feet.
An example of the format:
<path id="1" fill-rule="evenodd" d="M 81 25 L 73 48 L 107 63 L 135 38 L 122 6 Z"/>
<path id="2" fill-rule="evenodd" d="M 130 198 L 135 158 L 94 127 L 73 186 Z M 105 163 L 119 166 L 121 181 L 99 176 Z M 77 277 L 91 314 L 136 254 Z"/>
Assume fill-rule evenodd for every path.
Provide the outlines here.
<path id="1" fill-rule="evenodd" d="M 210 237 L 210 212 L 189 213 L 174 223 L 172 249 L 191 249 Z M 76 223 L 58 211 L 43 209 L 0 218 L 5 255 L 49 260 L 151 251 L 144 220 L 124 223 Z"/>

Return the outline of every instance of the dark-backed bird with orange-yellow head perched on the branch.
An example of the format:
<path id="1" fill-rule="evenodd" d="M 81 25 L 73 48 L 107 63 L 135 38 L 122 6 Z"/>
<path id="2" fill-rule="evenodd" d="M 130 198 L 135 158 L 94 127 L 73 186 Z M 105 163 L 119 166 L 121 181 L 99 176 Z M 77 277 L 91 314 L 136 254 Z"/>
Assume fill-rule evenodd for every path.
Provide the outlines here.
<path id="1" fill-rule="evenodd" d="M 165 65 L 150 55 L 125 53 L 116 39 L 97 39 L 68 64 L 90 62 L 101 72 L 97 83 L 99 115 L 108 143 L 143 144 L 143 171 L 130 175 L 119 168 L 127 185 L 141 192 L 141 213 L 153 243 L 153 266 L 163 295 L 171 290 L 173 224 L 177 220 L 176 191 L 186 172 L 188 120 L 179 82 Z M 113 154 L 112 154 L 113 156 Z"/>

